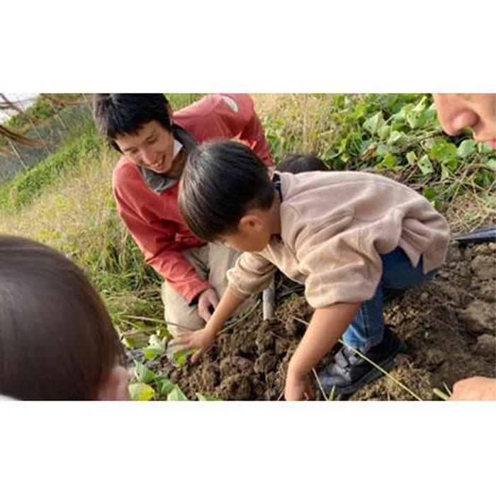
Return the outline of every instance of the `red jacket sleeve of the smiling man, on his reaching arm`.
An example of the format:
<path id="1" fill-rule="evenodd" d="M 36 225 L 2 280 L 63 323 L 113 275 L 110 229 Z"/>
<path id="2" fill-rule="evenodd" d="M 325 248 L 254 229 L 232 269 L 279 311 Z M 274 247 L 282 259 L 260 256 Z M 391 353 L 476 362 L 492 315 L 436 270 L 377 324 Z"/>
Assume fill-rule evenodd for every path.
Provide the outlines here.
<path id="1" fill-rule="evenodd" d="M 114 188 L 117 210 L 137 246 L 145 255 L 145 262 L 151 265 L 171 286 L 184 295 L 191 303 L 196 296 L 210 288 L 193 265 L 181 253 L 175 241 L 174 222 L 148 219 L 120 196 Z"/>

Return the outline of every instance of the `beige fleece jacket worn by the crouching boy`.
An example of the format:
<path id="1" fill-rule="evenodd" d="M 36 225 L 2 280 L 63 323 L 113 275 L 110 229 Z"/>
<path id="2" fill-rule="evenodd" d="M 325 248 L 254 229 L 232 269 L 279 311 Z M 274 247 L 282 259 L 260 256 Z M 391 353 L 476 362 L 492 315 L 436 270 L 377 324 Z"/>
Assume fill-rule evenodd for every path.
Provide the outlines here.
<path id="1" fill-rule="evenodd" d="M 242 298 L 269 286 L 276 269 L 305 284 L 313 308 L 369 300 L 382 274 L 381 254 L 401 247 L 424 273 L 446 258 L 449 227 L 423 196 L 366 172 L 278 173 L 281 237 L 244 252 L 227 271 Z"/>

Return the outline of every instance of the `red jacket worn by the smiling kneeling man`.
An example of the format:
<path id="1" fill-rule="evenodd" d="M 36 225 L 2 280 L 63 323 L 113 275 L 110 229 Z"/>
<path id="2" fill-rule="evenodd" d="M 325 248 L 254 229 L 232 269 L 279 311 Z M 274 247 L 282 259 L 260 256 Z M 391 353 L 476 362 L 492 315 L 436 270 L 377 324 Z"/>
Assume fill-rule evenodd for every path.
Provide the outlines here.
<path id="1" fill-rule="evenodd" d="M 174 113 L 174 123 L 197 142 L 237 138 L 272 165 L 264 130 L 246 94 L 210 95 Z M 113 192 L 120 218 L 150 264 L 191 302 L 210 287 L 182 250 L 205 244 L 188 229 L 179 213 L 179 182 L 161 193 L 145 183 L 138 167 L 122 157 L 113 171 Z"/>

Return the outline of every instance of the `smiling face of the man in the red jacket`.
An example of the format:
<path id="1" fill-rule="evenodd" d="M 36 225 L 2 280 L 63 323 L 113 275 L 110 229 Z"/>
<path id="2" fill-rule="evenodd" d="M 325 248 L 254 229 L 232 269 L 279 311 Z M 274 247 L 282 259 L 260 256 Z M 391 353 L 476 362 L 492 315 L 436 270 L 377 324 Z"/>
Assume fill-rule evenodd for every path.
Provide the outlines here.
<path id="1" fill-rule="evenodd" d="M 174 136 L 157 120 L 150 120 L 136 134 L 118 135 L 115 138 L 120 151 L 131 162 L 159 174 L 168 174 L 174 161 Z"/>

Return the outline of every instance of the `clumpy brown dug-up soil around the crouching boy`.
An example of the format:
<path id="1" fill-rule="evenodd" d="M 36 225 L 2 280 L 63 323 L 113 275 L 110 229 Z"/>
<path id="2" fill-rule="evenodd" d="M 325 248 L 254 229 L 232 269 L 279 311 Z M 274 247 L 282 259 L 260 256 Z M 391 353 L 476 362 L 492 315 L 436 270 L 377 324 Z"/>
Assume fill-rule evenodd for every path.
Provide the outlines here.
<path id="1" fill-rule="evenodd" d="M 408 291 L 385 310 L 385 320 L 407 344 L 391 371 L 424 400 L 437 399 L 468 376 L 496 376 L 496 243 L 459 247 L 453 242 L 446 264 L 434 280 Z M 287 281 L 286 281 L 287 283 Z M 285 281 L 279 281 L 279 293 Z M 276 318 L 261 320 L 261 311 L 221 334 L 201 362 L 174 369 L 166 359 L 163 371 L 190 399 L 196 393 L 222 400 L 278 400 L 286 367 L 303 336 L 311 308 L 302 296 L 278 303 Z M 335 351 L 335 350 L 334 350 Z M 332 361 L 329 353 L 320 364 Z M 322 399 L 315 378 L 317 398 Z M 344 398 L 342 398 L 344 399 Z M 366 385 L 350 400 L 412 400 L 388 377 Z"/>

